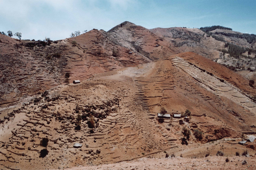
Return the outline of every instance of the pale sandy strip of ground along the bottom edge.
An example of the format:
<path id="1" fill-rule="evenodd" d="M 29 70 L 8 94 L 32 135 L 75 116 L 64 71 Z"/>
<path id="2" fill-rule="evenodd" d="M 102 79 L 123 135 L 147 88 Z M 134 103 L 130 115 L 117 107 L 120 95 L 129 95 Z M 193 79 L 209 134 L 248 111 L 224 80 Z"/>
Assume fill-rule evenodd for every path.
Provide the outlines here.
<path id="1" fill-rule="evenodd" d="M 135 161 L 98 166 L 73 167 L 67 170 L 255 170 L 255 157 L 226 157 L 210 156 L 205 158 L 141 158 Z M 242 165 L 246 160 L 247 164 Z"/>

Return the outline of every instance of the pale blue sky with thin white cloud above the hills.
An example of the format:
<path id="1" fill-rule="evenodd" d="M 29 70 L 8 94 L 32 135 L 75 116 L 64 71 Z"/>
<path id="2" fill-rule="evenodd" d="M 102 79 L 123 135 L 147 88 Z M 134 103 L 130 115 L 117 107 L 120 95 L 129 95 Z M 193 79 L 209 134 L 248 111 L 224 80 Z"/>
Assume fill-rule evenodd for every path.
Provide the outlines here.
<path id="1" fill-rule="evenodd" d="M 221 25 L 256 34 L 256 0 L 0 0 L 0 31 L 21 32 L 22 39 L 65 39 L 124 21 L 148 29 Z"/>

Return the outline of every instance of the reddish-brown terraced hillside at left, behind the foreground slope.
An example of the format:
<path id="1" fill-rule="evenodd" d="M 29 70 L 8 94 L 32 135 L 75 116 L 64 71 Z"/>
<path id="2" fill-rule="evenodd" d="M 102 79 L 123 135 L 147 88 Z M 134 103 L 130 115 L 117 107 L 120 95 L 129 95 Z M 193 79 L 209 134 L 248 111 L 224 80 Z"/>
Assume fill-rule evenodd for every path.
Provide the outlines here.
<path id="1" fill-rule="evenodd" d="M 77 41 L 77 42 L 76 42 Z M 113 50 L 116 54 L 113 55 Z M 19 41 L 0 35 L 0 104 L 93 74 L 131 67 L 150 60 L 114 44 L 104 31 L 92 30 L 75 38 L 55 42 Z"/>

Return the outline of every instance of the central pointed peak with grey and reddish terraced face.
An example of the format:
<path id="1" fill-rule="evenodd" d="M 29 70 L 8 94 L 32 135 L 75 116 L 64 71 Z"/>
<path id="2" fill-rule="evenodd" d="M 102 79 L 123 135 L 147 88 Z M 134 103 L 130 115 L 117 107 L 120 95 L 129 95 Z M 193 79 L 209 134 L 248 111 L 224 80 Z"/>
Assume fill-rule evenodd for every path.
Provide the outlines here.
<path id="1" fill-rule="evenodd" d="M 149 29 L 131 22 L 122 22 L 110 29 L 108 34 L 120 45 L 132 49 L 132 51 L 138 52 L 152 61 L 180 52 L 178 48 L 174 47 L 173 43 L 150 32 Z"/>

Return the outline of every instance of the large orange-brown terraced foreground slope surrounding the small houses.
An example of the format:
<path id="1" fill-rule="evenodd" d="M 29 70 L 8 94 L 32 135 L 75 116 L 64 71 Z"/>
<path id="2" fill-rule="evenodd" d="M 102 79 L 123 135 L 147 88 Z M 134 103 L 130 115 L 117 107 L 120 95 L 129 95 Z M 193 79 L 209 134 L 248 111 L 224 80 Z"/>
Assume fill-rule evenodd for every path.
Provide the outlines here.
<path id="1" fill-rule="evenodd" d="M 164 151 L 204 157 L 207 153 L 216 155 L 218 150 L 231 156 L 247 149 L 254 156 L 252 147 L 246 148 L 238 141 L 242 133 L 256 134 L 256 104 L 249 98 L 255 89 L 239 74 L 227 71 L 203 56 L 187 52 L 96 74 L 81 84 L 57 86 L 27 103 L 2 108 L 6 118 L 0 129 L 0 167 L 58 169 L 141 157 L 163 158 Z M 180 125 L 180 119 L 157 119 L 161 106 L 170 114 L 189 109 L 190 122 Z M 90 127 L 92 119 L 95 128 Z M 192 134 L 199 129 L 203 139 L 191 134 L 188 144 L 182 145 L 183 127 Z M 45 137 L 49 138 L 49 153 L 40 157 L 44 149 L 40 141 Z M 82 147 L 73 148 L 75 143 Z M 256 145 L 255 141 L 248 144 Z M 234 157 L 241 166 L 242 159 L 237 159 Z M 210 167 L 215 161 L 224 164 L 220 158 L 209 160 L 214 163 L 209 163 Z M 167 161 L 173 165 L 177 159 Z M 193 165 L 195 160 L 180 161 Z M 253 158 L 248 161 L 255 164 Z"/>

